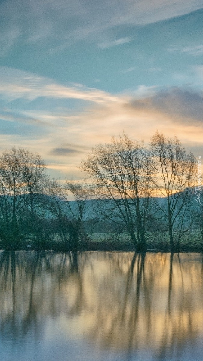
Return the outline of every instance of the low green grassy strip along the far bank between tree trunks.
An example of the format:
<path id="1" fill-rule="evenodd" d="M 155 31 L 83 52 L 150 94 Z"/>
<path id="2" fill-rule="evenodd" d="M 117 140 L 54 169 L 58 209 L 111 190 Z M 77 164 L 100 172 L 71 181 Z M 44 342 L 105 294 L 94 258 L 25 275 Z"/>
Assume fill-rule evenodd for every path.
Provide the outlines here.
<path id="1" fill-rule="evenodd" d="M 68 238 L 67 238 L 68 239 Z M 148 232 L 146 234 L 147 251 L 170 252 L 170 242 L 168 232 Z M 175 242 L 176 243 L 176 242 Z M 5 249 L 3 245 L 0 247 Z M 44 240 L 44 243 L 35 243 L 31 240 L 24 240 L 18 248 L 9 247 L 10 250 L 53 250 L 72 251 L 73 244 L 65 243 L 54 234 L 51 238 Z M 111 232 L 92 233 L 88 241 L 81 239 L 79 251 L 135 251 L 133 242 L 128 233 L 116 234 Z M 203 252 L 203 240 L 200 231 L 190 230 L 185 232 L 180 242 L 180 252 Z"/>

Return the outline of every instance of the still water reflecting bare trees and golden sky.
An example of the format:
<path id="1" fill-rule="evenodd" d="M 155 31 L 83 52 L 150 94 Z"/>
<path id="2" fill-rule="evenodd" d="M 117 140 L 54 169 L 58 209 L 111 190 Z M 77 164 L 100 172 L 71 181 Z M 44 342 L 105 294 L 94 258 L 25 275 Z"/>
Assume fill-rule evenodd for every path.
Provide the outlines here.
<path id="1" fill-rule="evenodd" d="M 0 360 L 203 360 L 202 255 L 1 251 Z"/>

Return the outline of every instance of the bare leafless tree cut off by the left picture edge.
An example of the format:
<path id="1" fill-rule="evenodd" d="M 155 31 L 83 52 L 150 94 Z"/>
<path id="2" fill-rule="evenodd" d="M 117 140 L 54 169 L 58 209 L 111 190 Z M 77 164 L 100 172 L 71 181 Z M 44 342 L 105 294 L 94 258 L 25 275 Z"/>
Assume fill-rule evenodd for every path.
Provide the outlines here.
<path id="1" fill-rule="evenodd" d="M 46 165 L 38 153 L 12 147 L 0 157 L 0 238 L 6 248 L 17 248 L 30 234 L 37 240 Z M 40 219 L 39 219 L 40 218 Z M 41 222 L 42 223 L 42 222 Z"/>

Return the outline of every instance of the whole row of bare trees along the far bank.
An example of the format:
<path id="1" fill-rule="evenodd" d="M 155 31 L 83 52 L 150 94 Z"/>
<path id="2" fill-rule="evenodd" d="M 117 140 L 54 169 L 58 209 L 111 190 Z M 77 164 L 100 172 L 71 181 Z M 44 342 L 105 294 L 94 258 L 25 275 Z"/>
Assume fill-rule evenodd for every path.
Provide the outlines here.
<path id="1" fill-rule="evenodd" d="M 98 230 L 117 242 L 126 239 L 138 252 L 152 239 L 163 239 L 172 252 L 182 243 L 203 245 L 203 208 L 194 196 L 197 160 L 176 137 L 156 132 L 145 145 L 123 134 L 92 149 L 80 169 L 83 182 L 60 182 L 49 179 L 38 153 L 3 151 L 1 248 L 90 249 Z"/>

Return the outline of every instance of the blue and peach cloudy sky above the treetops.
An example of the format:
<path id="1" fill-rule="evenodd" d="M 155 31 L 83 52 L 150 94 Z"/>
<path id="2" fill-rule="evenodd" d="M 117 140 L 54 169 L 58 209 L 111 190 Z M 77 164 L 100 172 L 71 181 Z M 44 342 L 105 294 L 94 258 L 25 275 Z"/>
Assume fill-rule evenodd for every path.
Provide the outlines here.
<path id="1" fill-rule="evenodd" d="M 0 150 L 79 179 L 125 131 L 203 156 L 203 0 L 0 0 Z"/>

